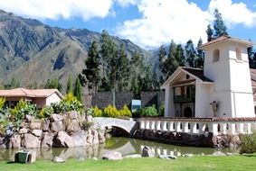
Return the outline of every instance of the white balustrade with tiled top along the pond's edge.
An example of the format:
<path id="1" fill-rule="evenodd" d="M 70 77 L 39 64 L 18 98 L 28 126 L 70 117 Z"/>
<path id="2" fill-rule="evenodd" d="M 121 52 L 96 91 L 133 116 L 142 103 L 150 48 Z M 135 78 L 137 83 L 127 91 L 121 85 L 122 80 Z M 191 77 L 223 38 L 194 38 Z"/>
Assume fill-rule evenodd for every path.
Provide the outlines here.
<path id="1" fill-rule="evenodd" d="M 250 134 L 256 129 L 256 118 L 141 118 L 139 128 L 189 134 Z"/>

